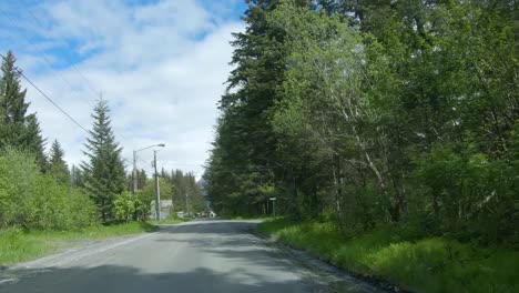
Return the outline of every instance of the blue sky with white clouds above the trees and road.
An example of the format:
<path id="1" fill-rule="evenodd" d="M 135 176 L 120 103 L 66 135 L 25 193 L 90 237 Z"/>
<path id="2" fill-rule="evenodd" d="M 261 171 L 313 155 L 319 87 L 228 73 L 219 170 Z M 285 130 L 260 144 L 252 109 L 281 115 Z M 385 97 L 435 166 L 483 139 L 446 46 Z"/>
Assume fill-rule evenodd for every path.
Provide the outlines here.
<path id="1" fill-rule="evenodd" d="M 0 52 L 86 129 L 100 94 L 131 166 L 132 150 L 165 143 L 159 166 L 203 172 L 216 103 L 231 70 L 232 32 L 243 31 L 243 0 L 0 1 Z M 84 159 L 85 133 L 31 85 L 48 144 L 69 164 Z M 151 150 L 138 164 L 150 171 Z"/>

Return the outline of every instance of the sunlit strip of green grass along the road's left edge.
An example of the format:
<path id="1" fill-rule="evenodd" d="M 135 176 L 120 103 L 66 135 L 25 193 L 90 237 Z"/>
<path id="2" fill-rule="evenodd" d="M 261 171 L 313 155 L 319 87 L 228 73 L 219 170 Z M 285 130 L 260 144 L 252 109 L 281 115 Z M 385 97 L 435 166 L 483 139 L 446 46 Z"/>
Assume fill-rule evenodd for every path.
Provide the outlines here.
<path id="1" fill-rule="evenodd" d="M 119 225 L 99 225 L 82 231 L 0 231 L 0 266 L 37 259 L 60 249 L 78 245 L 85 240 L 99 240 L 155 231 L 150 223 L 131 222 Z"/>

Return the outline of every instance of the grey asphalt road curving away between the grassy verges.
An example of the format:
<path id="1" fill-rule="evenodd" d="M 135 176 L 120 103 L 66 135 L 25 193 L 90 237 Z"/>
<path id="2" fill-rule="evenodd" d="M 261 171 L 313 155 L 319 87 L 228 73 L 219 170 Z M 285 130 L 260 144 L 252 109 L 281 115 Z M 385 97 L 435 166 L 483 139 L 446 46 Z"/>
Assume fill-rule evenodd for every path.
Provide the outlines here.
<path id="1" fill-rule="evenodd" d="M 251 234 L 255 224 L 196 221 L 83 245 L 11 267 L 0 292 L 323 292 L 306 269 Z"/>

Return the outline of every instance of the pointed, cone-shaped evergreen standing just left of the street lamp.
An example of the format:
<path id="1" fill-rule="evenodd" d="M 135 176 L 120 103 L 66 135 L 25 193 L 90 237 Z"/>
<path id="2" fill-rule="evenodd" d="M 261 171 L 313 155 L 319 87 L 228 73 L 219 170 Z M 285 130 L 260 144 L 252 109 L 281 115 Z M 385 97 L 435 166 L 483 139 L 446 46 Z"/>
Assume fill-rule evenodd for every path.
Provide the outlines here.
<path id="1" fill-rule="evenodd" d="M 93 130 L 85 143 L 84 154 L 89 161 L 82 164 L 85 188 L 98 205 L 103 222 L 114 219 L 113 201 L 124 190 L 126 181 L 122 148 L 115 142 L 109 113 L 108 102 L 99 100 L 92 114 Z"/>

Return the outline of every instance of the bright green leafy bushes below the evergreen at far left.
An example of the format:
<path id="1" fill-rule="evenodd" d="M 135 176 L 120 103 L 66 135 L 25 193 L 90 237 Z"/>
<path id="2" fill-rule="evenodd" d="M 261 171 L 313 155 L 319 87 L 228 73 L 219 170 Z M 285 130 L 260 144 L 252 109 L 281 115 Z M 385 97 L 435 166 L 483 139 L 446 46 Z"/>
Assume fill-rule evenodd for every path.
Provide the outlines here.
<path id="1" fill-rule="evenodd" d="M 0 154 L 0 170 L 2 228 L 74 230 L 95 223 L 88 196 L 41 174 L 27 152 L 8 148 Z"/>

